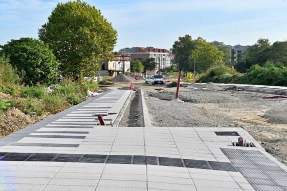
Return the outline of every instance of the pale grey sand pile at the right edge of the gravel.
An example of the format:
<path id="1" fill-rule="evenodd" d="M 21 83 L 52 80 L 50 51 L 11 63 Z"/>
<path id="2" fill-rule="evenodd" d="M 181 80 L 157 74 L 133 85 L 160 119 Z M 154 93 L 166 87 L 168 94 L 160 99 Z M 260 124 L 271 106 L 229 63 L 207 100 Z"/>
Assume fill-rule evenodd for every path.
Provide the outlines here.
<path id="1" fill-rule="evenodd" d="M 287 99 L 267 110 L 264 116 L 287 122 Z"/>

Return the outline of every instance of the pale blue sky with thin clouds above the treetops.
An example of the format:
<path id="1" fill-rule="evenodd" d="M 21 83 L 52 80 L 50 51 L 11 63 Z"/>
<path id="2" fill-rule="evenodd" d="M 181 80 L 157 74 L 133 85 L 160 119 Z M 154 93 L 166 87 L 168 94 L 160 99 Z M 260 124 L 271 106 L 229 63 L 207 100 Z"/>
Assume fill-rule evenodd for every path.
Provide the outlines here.
<path id="1" fill-rule="evenodd" d="M 286 2 L 285 2 L 286 1 Z M 38 38 L 52 10 L 66 0 L 0 0 L 0 45 Z M 252 45 L 287 40 L 287 0 L 86 0 L 118 32 L 125 47 L 170 49 L 180 36 Z"/>

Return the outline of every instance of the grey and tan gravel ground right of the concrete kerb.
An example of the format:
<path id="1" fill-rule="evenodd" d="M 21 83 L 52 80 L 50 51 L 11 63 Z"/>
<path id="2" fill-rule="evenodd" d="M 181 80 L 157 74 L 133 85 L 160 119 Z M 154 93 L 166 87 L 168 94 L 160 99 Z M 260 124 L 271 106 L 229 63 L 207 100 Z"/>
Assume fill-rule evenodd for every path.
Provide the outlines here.
<path id="1" fill-rule="evenodd" d="M 135 87 L 145 92 L 152 125 L 155 127 L 218 127 L 239 124 L 267 152 L 287 164 L 287 125 L 262 117 L 264 112 L 282 101 L 262 99 L 270 94 L 249 91 L 215 91 L 204 87 L 182 87 L 183 103 L 170 101 L 176 88 L 144 85 Z M 163 90 L 155 90 L 163 88 Z"/>

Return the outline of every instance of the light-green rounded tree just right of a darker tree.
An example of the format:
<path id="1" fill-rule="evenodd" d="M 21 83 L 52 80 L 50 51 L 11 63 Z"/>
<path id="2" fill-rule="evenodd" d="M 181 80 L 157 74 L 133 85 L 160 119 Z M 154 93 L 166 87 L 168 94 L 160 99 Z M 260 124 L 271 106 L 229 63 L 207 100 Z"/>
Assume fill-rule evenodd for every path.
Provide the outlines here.
<path id="1" fill-rule="evenodd" d="M 196 61 L 196 71 L 204 72 L 210 67 L 224 63 L 224 53 L 205 40 L 196 40 L 196 48 L 191 52 L 189 62 Z"/>

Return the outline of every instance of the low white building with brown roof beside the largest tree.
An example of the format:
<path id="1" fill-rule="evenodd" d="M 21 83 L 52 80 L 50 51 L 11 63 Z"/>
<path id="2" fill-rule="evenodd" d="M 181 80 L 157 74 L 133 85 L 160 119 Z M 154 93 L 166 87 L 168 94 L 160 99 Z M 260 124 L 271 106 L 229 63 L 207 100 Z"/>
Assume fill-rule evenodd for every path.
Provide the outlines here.
<path id="1" fill-rule="evenodd" d="M 129 56 L 121 56 L 116 55 L 110 61 L 103 60 L 101 61 L 101 70 L 98 73 L 101 76 L 111 76 L 115 77 L 118 74 L 122 74 L 123 72 L 123 64 L 124 64 L 124 72 L 130 72 L 130 57 Z"/>

